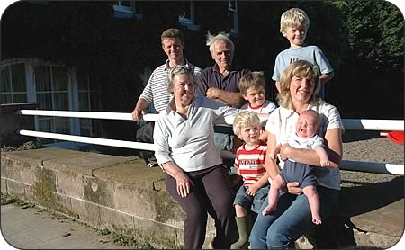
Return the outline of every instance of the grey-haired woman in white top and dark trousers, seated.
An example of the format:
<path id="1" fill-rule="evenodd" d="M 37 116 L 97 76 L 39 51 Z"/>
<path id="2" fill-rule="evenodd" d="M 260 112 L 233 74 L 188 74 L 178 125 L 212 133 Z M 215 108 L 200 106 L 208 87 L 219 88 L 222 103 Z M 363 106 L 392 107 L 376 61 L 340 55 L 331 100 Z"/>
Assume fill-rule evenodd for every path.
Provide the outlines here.
<path id="1" fill-rule="evenodd" d="M 212 125 L 239 110 L 194 96 L 193 74 L 184 66 L 170 70 L 168 90 L 173 98 L 156 121 L 155 156 L 166 172 L 167 191 L 186 213 L 185 248 L 202 248 L 209 212 L 216 227 L 213 246 L 229 249 L 233 194 Z"/>

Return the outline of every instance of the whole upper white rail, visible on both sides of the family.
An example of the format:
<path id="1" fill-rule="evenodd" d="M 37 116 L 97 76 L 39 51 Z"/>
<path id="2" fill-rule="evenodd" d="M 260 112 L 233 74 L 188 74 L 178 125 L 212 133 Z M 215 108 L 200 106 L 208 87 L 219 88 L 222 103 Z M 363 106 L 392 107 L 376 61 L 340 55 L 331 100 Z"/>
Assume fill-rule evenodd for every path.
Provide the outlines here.
<path id="1" fill-rule="evenodd" d="M 132 121 L 131 113 L 125 112 L 66 112 L 66 111 L 44 111 L 44 110 L 21 110 L 24 115 L 43 115 L 58 117 L 93 118 L 108 120 Z M 156 121 L 157 114 L 146 114 L 144 121 Z M 228 124 L 232 124 L 233 118 L 226 118 Z M 403 131 L 403 120 L 373 120 L 373 119 L 342 119 L 347 130 L 378 130 L 378 131 Z"/>

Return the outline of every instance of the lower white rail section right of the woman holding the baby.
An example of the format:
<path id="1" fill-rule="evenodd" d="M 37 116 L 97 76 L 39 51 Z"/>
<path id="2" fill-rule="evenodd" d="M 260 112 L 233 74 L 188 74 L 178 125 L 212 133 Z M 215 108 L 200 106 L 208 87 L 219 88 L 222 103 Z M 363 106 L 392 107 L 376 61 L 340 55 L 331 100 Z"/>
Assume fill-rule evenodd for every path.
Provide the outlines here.
<path id="1" fill-rule="evenodd" d="M 376 174 L 403 175 L 404 173 L 403 165 L 359 161 L 342 161 L 340 164 L 340 169 Z"/>

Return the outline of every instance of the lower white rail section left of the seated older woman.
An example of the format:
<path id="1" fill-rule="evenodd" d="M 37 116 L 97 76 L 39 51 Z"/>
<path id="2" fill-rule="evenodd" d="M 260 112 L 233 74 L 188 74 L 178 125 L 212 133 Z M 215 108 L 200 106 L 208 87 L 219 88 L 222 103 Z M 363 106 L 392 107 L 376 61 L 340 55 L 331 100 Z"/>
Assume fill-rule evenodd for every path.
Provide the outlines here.
<path id="1" fill-rule="evenodd" d="M 131 148 L 131 149 L 155 151 L 155 145 L 153 143 L 134 142 L 134 141 L 126 141 L 126 140 L 110 139 L 110 138 L 79 137 L 79 136 L 62 135 L 62 134 L 31 131 L 31 130 L 24 130 L 24 129 L 18 130 L 17 133 L 19 133 L 20 135 L 29 136 L 29 137 L 54 138 L 54 139 L 69 140 L 69 141 L 75 141 L 75 142 L 97 144 L 97 145 L 103 145 L 103 146 L 125 147 L 125 148 Z"/>

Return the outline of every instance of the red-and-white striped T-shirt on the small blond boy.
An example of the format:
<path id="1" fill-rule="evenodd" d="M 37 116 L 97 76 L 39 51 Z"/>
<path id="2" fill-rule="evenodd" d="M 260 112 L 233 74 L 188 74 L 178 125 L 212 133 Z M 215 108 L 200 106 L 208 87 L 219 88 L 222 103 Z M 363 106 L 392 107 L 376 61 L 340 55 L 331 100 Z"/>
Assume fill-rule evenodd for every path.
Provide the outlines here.
<path id="1" fill-rule="evenodd" d="M 239 168 L 244 185 L 257 183 L 266 174 L 266 151 L 266 144 L 259 144 L 251 150 L 247 150 L 245 145 L 238 148 L 234 166 Z"/>

